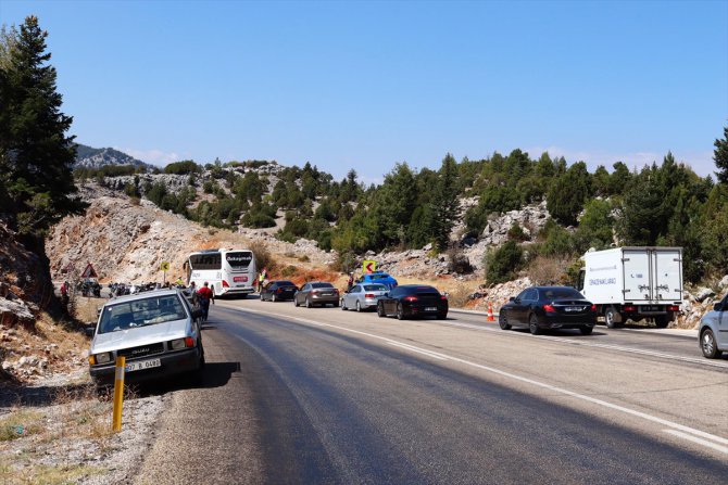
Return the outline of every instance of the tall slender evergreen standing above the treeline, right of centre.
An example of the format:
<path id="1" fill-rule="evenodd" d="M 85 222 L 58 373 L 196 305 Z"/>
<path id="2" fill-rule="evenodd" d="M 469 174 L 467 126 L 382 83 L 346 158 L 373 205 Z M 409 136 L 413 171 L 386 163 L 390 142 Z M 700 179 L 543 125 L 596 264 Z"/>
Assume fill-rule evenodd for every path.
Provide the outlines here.
<path id="1" fill-rule="evenodd" d="M 448 153 L 442 159 L 431 210 L 431 234 L 438 251 L 448 248 L 450 231 L 457 216 L 457 162 Z"/>

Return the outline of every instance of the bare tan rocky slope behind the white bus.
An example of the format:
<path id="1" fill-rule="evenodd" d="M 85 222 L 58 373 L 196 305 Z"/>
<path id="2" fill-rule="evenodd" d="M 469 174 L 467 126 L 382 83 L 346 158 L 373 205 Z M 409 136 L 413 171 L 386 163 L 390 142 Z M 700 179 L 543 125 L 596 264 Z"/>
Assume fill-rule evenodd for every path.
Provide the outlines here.
<path id="1" fill-rule="evenodd" d="M 184 276 L 183 265 L 193 251 L 249 247 L 254 241 L 264 241 L 281 263 L 303 255 L 318 265 L 334 259 L 305 240 L 291 244 L 262 231 L 204 228 L 149 201 L 135 204 L 126 195 L 96 184 L 86 186 L 83 193 L 90 203 L 87 213 L 64 219 L 47 240 L 51 271 L 59 277 L 64 269 L 83 271 L 91 263 L 102 282 L 161 281 L 160 264 L 168 261 L 167 279 L 174 280 Z"/>

